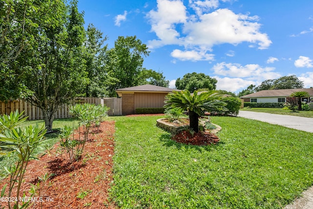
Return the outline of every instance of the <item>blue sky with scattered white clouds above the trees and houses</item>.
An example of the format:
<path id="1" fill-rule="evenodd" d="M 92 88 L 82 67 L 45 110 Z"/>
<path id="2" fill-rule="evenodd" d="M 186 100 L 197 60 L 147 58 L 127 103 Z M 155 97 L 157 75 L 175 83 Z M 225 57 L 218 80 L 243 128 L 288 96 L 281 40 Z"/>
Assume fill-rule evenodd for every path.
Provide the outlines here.
<path id="1" fill-rule="evenodd" d="M 313 86 L 313 0 L 79 0 L 78 9 L 110 48 L 118 36 L 146 44 L 143 67 L 171 88 L 188 72 L 235 93 L 285 75 Z"/>

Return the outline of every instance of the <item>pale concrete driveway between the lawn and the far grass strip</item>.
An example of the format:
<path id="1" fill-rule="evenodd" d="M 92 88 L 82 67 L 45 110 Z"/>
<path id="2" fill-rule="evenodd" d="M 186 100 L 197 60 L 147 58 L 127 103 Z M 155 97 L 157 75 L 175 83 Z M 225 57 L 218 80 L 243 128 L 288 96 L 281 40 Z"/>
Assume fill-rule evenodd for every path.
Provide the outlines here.
<path id="1" fill-rule="evenodd" d="M 252 111 L 239 111 L 238 116 L 313 133 L 313 118 L 310 117 L 284 116 Z"/>

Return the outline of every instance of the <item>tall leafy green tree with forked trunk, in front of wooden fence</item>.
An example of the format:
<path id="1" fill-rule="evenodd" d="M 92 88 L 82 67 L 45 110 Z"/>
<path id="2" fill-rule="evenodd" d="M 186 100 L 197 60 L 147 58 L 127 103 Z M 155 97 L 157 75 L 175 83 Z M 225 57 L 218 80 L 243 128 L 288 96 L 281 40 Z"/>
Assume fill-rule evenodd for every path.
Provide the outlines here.
<path id="1" fill-rule="evenodd" d="M 31 68 L 23 77 L 24 85 L 33 92 L 26 100 L 43 111 L 45 126 L 51 131 L 59 107 L 71 101 L 89 82 L 85 61 L 81 58 L 85 29 L 77 1 L 69 5 L 53 1 L 35 39 L 38 44 L 29 50 L 33 56 L 24 54 L 21 59 Z"/>

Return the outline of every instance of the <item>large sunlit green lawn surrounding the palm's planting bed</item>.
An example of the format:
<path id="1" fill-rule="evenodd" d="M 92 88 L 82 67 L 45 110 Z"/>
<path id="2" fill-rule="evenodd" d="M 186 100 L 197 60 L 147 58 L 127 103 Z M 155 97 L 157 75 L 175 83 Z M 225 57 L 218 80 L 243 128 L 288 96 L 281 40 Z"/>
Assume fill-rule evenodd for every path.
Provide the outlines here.
<path id="1" fill-rule="evenodd" d="M 313 184 L 313 134 L 240 117 L 213 146 L 182 145 L 157 116 L 116 120 L 112 199 L 128 208 L 281 209 Z"/>

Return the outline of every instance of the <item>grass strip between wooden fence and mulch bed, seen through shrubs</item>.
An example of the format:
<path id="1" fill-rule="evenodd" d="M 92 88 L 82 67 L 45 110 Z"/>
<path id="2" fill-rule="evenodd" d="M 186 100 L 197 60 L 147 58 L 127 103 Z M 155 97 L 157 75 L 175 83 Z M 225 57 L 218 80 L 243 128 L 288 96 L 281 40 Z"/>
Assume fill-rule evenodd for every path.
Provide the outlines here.
<path id="1" fill-rule="evenodd" d="M 73 118 L 67 118 L 67 119 L 55 119 L 53 122 L 53 130 L 58 130 L 59 128 L 63 127 L 64 125 L 71 126 L 73 123 Z M 28 126 L 28 125 L 36 125 L 42 126 L 45 124 L 44 120 L 26 120 L 22 123 L 20 126 L 21 128 Z M 77 124 L 77 123 L 76 123 Z M 45 135 L 47 142 L 46 146 L 50 147 L 53 144 L 55 144 L 58 140 L 58 134 L 57 133 L 50 133 Z M 6 153 L 7 150 L 1 150 L 3 153 Z M 35 150 L 35 154 L 40 153 L 42 150 Z M 4 171 L 4 167 L 10 167 L 18 160 L 18 157 L 16 153 L 12 153 L 9 156 L 8 155 L 0 155 L 0 176 L 5 177 L 7 174 Z M 1 177 L 0 177 L 1 179 Z"/>

